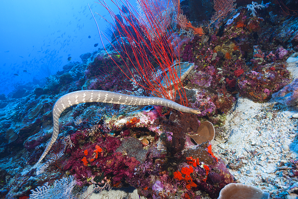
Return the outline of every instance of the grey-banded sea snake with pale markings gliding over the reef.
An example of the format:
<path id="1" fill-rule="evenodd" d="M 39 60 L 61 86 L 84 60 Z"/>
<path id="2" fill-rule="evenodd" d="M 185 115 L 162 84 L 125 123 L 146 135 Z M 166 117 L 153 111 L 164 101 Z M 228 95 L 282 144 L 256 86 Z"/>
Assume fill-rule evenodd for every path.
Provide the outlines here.
<path id="1" fill-rule="evenodd" d="M 38 163 L 44 159 L 46 154 L 51 149 L 54 142 L 57 140 L 59 134 L 59 117 L 60 114 L 68 107 L 75 104 L 81 104 L 86 102 L 105 102 L 111 104 L 125 104 L 125 105 L 160 105 L 165 107 L 170 107 L 181 112 L 187 112 L 192 114 L 200 114 L 201 112 L 197 109 L 189 108 L 177 104 L 174 101 L 156 98 L 156 97 L 143 97 L 136 95 L 126 95 L 117 92 L 104 91 L 104 90 L 80 90 L 75 92 L 70 92 L 61 96 L 55 103 L 53 108 L 53 133 L 51 140 L 46 145 L 44 153 L 39 158 L 38 162 L 33 166 L 35 168 Z"/>

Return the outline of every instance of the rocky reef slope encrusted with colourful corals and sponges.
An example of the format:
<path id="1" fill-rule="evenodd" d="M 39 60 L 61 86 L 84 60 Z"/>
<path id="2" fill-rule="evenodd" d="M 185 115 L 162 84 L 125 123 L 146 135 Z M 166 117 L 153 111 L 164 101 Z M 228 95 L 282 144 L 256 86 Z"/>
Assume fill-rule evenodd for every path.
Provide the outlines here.
<path id="1" fill-rule="evenodd" d="M 286 18 L 277 4 L 266 4 L 257 13 L 254 9 L 258 7 L 250 7 L 251 16 L 243 2 L 240 7 L 236 7 L 233 1 L 229 2 L 229 12 L 235 11 L 225 18 L 229 12 L 223 15 L 221 9 L 215 7 L 216 13 L 212 18 L 215 23 L 210 25 L 201 20 L 207 20 L 212 15 L 212 5 L 208 7 L 207 1 L 203 0 L 188 1 L 189 5 L 202 5 L 200 9 L 206 7 L 205 14 L 196 13 L 198 10 L 194 7 L 182 8 L 196 27 L 201 26 L 194 36 L 192 30 L 180 29 L 183 27 L 179 27 L 179 21 L 176 21 L 180 10 L 173 1 L 170 21 L 164 21 L 170 26 L 158 30 L 163 31 L 164 38 L 153 45 L 153 41 L 157 40 L 150 40 L 150 43 L 149 39 L 153 35 L 158 36 L 159 32 L 155 30 L 150 36 L 149 32 L 146 32 L 147 35 L 142 33 L 138 35 L 142 40 L 136 47 L 134 44 L 138 37 L 129 35 L 133 30 L 132 19 L 135 18 L 122 7 L 121 15 L 113 16 L 117 24 L 107 51 L 99 49 L 82 54 L 82 63 L 66 64 L 62 71 L 47 77 L 44 84 L 18 85 L 7 97 L 0 95 L 0 196 L 28 198 L 30 190 L 44 183 L 45 190 L 50 190 L 52 183 L 67 175 L 73 177 L 62 178 L 56 181 L 56 185 L 60 183 L 63 186 L 63 182 L 69 181 L 77 186 L 98 184 L 98 191 L 134 186 L 140 196 L 154 199 L 198 199 L 204 194 L 217 198 L 226 185 L 235 182 L 229 169 L 240 168 L 242 162 L 239 158 L 238 164 L 230 162 L 229 169 L 226 168 L 228 162 L 212 152 L 209 141 L 214 135 L 221 136 L 221 126 L 225 124 L 226 115 L 237 97 L 240 95 L 254 102 L 266 102 L 273 95 L 283 98 L 285 105 L 294 106 L 297 102 L 298 79 L 291 82 L 285 63 L 298 49 L 297 18 Z M 142 12 L 148 11 L 145 4 L 140 5 L 143 6 Z M 253 5 L 256 6 L 254 2 Z M 121 24 L 123 18 L 126 22 Z M 150 21 L 146 23 L 148 26 Z M 139 24 L 133 33 L 140 33 L 142 28 L 145 27 Z M 124 32 L 126 35 L 121 43 Z M 130 39 L 134 42 L 128 42 Z M 141 44 L 146 48 L 141 49 Z M 128 47 L 127 51 L 125 47 Z M 135 51 L 137 55 L 131 56 L 133 49 L 142 53 Z M 162 53 L 154 54 L 159 52 L 158 49 L 162 49 Z M 151 57 L 145 60 L 143 55 Z M 164 57 L 167 59 L 161 60 Z M 171 90 L 172 86 L 167 85 L 166 89 L 162 86 L 162 92 L 171 92 L 171 100 L 185 102 L 187 106 L 199 109 L 201 114 L 182 114 L 161 106 L 75 105 L 61 114 L 58 141 L 44 163 L 37 169 L 30 169 L 51 137 L 52 107 L 59 97 L 83 89 L 155 95 L 154 92 L 159 92 L 153 89 L 155 87 L 146 90 L 142 86 L 146 83 L 147 86 L 156 86 L 156 82 L 171 79 L 173 71 L 179 76 L 179 64 L 175 65 L 175 60 L 194 67 L 183 80 L 179 77 L 179 81 L 173 84 L 179 89 Z M 135 75 L 137 72 L 133 67 L 143 64 L 150 64 L 150 69 L 156 70 L 156 73 L 148 79 L 142 79 L 147 75 L 142 72 L 139 76 Z M 165 66 L 167 70 L 162 69 Z M 211 128 L 212 124 L 215 128 Z M 204 127 L 207 130 L 203 131 Z M 203 141 L 195 138 L 207 131 L 210 135 Z M 297 180 L 297 161 L 293 160 L 291 165 L 283 168 L 289 170 L 286 173 L 288 178 Z M 284 187 L 281 185 L 281 188 Z M 293 194 L 296 188 L 297 184 L 291 185 L 287 194 Z M 31 197 L 38 197 L 41 189 L 33 191 Z"/>

